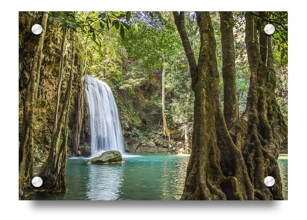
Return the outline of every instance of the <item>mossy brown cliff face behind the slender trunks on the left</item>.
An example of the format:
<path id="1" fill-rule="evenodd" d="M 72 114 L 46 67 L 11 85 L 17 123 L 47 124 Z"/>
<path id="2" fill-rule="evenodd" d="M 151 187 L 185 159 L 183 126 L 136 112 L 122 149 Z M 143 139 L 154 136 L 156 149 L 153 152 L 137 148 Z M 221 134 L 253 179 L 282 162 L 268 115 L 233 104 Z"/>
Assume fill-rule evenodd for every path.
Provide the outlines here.
<path id="1" fill-rule="evenodd" d="M 39 35 L 33 35 L 31 27 L 33 24 L 41 24 L 43 12 L 20 11 L 19 17 L 19 135 L 22 132 L 23 103 L 25 100 L 26 85 L 29 80 L 29 73 L 32 66 L 34 48 L 36 47 Z M 55 82 L 58 79 L 60 51 L 62 45 L 63 31 L 58 28 L 57 22 L 47 23 L 47 30 L 44 40 L 43 55 L 41 61 L 41 74 L 39 78 L 39 89 L 37 91 L 37 101 L 34 108 L 33 122 L 33 156 L 34 165 L 45 162 L 49 155 L 51 146 L 52 127 L 54 121 L 54 106 L 56 104 Z M 63 103 L 67 82 L 70 72 L 71 57 L 71 30 L 67 33 L 65 43 L 65 59 L 63 64 L 63 76 L 61 83 L 60 103 Z M 75 47 L 74 71 L 78 71 L 80 65 L 83 65 L 79 48 Z M 68 73 L 68 74 L 66 74 Z M 74 79 L 72 83 L 72 99 L 77 94 L 79 81 Z M 62 92 L 64 91 L 64 92 Z M 74 102 L 70 103 L 70 109 L 73 109 Z M 72 127 L 68 129 L 69 132 Z M 68 135 L 70 137 L 70 134 Z M 69 155 L 69 152 L 68 152 Z"/>

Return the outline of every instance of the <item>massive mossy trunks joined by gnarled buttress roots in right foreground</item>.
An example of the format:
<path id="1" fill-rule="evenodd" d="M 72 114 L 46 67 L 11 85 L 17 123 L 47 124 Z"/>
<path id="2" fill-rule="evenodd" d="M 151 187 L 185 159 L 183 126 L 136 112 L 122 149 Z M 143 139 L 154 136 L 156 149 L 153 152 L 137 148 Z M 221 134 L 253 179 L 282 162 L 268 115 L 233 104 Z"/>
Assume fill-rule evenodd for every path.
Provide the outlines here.
<path id="1" fill-rule="evenodd" d="M 247 108 L 228 131 L 220 103 L 216 41 L 209 13 L 196 13 L 201 43 L 197 65 L 185 32 L 184 13 L 173 14 L 195 92 L 192 153 L 181 199 L 283 199 L 277 150 L 286 137 L 287 128 L 275 100 L 274 70 L 264 65 L 258 44 L 251 37 L 254 36 L 251 15 L 246 16 L 246 44 L 251 66 Z M 275 178 L 274 186 L 264 184 L 266 176 Z"/>

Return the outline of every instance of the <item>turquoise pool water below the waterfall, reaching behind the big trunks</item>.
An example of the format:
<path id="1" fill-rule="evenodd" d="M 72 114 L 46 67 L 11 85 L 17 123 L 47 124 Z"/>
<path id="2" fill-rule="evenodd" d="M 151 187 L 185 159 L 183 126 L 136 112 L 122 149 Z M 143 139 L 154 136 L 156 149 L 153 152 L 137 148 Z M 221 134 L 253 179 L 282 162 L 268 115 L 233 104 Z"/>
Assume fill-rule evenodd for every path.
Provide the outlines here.
<path id="1" fill-rule="evenodd" d="M 68 192 L 35 194 L 30 200 L 178 200 L 181 197 L 189 155 L 124 154 L 125 163 L 87 164 L 86 158 L 69 158 Z M 278 157 L 284 199 L 288 199 L 288 155 Z M 36 168 L 37 169 L 37 168 Z"/>

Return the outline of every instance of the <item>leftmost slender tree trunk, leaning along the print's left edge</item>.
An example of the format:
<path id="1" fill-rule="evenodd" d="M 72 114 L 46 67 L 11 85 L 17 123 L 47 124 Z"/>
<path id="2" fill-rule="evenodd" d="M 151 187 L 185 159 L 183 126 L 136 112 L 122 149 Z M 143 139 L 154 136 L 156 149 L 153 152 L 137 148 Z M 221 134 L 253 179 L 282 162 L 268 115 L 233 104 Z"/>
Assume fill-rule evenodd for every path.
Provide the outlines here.
<path id="1" fill-rule="evenodd" d="M 42 16 L 41 32 L 34 51 L 32 66 L 30 69 L 29 81 L 26 85 L 22 132 L 19 147 L 19 199 L 23 199 L 23 191 L 30 186 L 33 171 L 33 119 L 34 109 L 37 100 L 37 90 L 40 80 L 42 50 L 44 45 L 48 13 L 44 12 Z M 33 36 L 34 37 L 34 36 Z"/>

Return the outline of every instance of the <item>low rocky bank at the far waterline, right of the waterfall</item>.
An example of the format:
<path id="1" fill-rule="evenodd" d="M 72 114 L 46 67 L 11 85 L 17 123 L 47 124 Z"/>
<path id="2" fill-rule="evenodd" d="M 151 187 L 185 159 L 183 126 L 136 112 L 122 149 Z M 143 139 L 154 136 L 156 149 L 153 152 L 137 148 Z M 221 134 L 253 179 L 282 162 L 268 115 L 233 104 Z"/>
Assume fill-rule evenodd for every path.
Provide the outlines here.
<path id="1" fill-rule="evenodd" d="M 185 141 L 178 134 L 171 135 L 171 141 L 165 141 L 163 132 L 155 132 L 146 136 L 141 142 L 125 138 L 125 151 L 135 154 L 191 154 Z"/>

